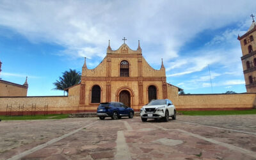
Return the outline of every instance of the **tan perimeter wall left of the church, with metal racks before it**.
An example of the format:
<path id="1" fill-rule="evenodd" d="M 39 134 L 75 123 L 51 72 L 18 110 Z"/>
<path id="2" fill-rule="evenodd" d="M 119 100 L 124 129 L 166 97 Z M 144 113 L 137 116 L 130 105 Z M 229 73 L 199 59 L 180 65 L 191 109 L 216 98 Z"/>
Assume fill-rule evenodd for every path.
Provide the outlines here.
<path id="1" fill-rule="evenodd" d="M 0 115 L 77 113 L 78 96 L 0 97 Z"/>

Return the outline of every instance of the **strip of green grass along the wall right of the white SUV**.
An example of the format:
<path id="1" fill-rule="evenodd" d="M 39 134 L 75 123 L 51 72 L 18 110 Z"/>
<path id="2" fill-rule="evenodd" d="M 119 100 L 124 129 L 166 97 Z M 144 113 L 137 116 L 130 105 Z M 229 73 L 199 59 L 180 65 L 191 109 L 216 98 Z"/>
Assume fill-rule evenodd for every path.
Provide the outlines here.
<path id="1" fill-rule="evenodd" d="M 256 109 L 249 109 L 243 111 L 178 111 L 184 115 L 190 116 L 209 116 L 209 115 L 254 115 Z"/>

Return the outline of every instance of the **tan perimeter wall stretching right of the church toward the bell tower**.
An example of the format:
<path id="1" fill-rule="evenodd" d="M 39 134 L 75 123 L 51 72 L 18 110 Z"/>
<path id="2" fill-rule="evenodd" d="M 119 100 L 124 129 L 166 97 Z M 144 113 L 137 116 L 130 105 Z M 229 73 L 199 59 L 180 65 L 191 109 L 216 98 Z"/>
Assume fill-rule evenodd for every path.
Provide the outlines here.
<path id="1" fill-rule="evenodd" d="M 191 94 L 174 97 L 178 111 L 241 110 L 256 106 L 256 93 Z"/>

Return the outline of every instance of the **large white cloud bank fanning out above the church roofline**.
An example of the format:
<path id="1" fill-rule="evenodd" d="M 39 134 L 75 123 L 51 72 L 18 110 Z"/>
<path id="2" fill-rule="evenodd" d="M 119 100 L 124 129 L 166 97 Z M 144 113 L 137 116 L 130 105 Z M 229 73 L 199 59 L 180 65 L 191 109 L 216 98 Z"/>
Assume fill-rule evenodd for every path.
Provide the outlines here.
<path id="1" fill-rule="evenodd" d="M 106 53 L 109 39 L 116 48 L 126 35 L 128 44 L 136 44 L 141 39 L 141 44 L 161 47 L 163 52 L 158 56 L 168 61 L 179 56 L 179 48 L 196 34 L 237 22 L 248 15 L 248 10 L 254 9 L 253 4 L 255 1 L 238 0 L 221 3 L 6 0 L 0 3 L 0 25 L 12 28 L 32 42 L 53 42 L 67 47 L 68 51 L 80 52 L 76 56 L 92 58 L 93 53 Z M 228 8 L 223 8 L 226 5 Z M 237 8 L 241 12 L 237 12 Z M 83 47 L 92 50 L 81 53 Z M 97 47 L 100 49 L 95 49 Z M 159 47 L 151 48 L 154 54 Z M 149 60 L 154 63 L 153 59 Z"/>

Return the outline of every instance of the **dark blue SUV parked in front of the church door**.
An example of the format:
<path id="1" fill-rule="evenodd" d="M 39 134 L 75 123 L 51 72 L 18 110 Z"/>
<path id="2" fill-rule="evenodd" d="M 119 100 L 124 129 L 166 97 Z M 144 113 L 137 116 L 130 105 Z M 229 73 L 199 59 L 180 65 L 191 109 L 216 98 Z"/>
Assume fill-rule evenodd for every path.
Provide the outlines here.
<path id="1" fill-rule="evenodd" d="M 100 103 L 97 109 L 97 116 L 99 116 L 100 120 L 104 120 L 106 116 L 110 116 L 113 120 L 116 120 L 122 116 L 132 118 L 133 115 L 133 109 L 125 106 L 121 102 Z"/>

